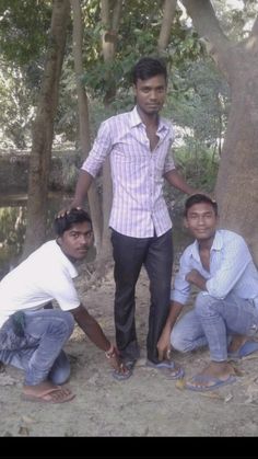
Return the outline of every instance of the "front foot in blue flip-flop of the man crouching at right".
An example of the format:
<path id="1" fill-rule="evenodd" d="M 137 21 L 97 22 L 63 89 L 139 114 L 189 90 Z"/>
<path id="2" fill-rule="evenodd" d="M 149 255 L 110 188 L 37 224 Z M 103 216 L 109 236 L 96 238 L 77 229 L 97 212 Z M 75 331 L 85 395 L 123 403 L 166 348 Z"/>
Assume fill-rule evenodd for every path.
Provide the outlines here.
<path id="1" fill-rule="evenodd" d="M 186 388 L 196 391 L 213 390 L 225 383 L 234 382 L 235 370 L 227 362 L 212 362 L 200 374 L 186 382 Z"/>

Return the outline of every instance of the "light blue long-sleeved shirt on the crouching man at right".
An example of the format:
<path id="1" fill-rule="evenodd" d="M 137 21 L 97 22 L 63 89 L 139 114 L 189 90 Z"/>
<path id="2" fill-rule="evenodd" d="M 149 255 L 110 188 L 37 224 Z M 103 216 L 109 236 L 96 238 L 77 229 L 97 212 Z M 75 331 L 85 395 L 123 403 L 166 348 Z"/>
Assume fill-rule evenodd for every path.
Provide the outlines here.
<path id="1" fill-rule="evenodd" d="M 198 242 L 188 245 L 180 257 L 172 300 L 186 305 L 191 290 L 186 275 L 191 269 L 207 279 L 207 292 L 214 298 L 224 299 L 230 292 L 244 299 L 258 298 L 258 271 L 245 240 L 233 231 L 216 230 L 210 252 L 210 272 L 202 266 Z"/>

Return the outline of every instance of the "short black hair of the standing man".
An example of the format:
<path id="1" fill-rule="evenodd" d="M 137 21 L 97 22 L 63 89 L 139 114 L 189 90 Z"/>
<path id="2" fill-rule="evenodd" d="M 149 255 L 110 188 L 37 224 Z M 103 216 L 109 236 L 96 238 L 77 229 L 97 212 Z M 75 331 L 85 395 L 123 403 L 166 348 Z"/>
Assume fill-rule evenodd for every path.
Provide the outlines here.
<path id="1" fill-rule="evenodd" d="M 137 84 L 138 80 L 144 81 L 157 74 L 163 74 L 167 82 L 167 70 L 164 61 L 154 57 L 142 57 L 132 69 L 132 82 Z"/>

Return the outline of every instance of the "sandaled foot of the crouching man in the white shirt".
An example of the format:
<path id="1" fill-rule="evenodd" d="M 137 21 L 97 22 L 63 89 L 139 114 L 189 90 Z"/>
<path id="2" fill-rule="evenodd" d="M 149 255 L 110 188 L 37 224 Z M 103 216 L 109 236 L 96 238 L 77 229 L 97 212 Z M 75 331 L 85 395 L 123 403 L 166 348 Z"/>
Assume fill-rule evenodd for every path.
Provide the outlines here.
<path id="1" fill-rule="evenodd" d="M 23 386 L 24 400 L 48 403 L 63 403 L 74 399 L 71 390 L 61 386 L 44 381 L 36 386 Z"/>

